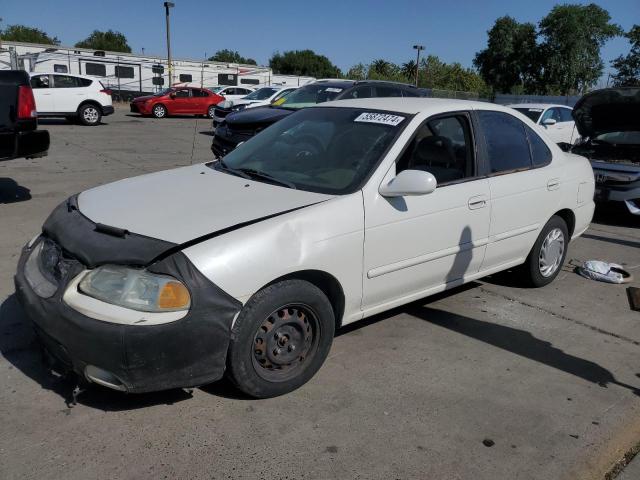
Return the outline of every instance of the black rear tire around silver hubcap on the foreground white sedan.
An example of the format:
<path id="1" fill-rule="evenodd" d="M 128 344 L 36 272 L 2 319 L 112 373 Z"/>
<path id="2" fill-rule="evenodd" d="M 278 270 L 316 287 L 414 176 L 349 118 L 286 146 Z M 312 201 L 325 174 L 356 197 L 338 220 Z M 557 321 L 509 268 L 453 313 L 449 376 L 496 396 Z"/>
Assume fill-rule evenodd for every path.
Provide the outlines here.
<path id="1" fill-rule="evenodd" d="M 559 262 L 552 262 L 555 268 L 550 269 L 551 271 L 545 271 L 546 267 L 543 267 L 544 262 L 541 258 L 541 250 L 543 244 L 545 243 L 545 239 L 547 239 L 547 236 L 549 236 L 551 232 L 558 230 L 562 235 L 562 253 L 560 254 L 560 260 Z M 569 230 L 567 228 L 566 222 L 557 215 L 551 217 L 551 219 L 540 231 L 540 235 L 538 235 L 536 243 L 534 243 L 531 252 L 529 252 L 529 256 L 527 256 L 527 260 L 520 269 L 520 274 L 523 282 L 528 286 L 536 288 L 544 287 L 545 285 L 549 285 L 551 282 L 553 282 L 553 280 L 555 280 L 555 278 L 562 270 L 562 265 L 564 265 L 564 261 L 567 257 L 567 247 L 569 246 L 569 240 Z M 555 250 L 553 252 L 557 253 L 555 252 Z M 554 255 L 554 257 L 557 257 L 557 255 Z"/>

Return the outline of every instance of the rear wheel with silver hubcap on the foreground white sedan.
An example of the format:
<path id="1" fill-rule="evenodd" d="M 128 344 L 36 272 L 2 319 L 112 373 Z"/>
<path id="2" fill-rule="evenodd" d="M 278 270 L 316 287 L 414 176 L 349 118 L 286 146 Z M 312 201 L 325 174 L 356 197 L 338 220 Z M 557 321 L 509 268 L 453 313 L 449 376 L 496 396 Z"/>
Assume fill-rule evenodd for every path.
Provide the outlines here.
<path id="1" fill-rule="evenodd" d="M 568 245 L 567 224 L 554 215 L 542 228 L 522 265 L 523 280 L 533 287 L 544 287 L 553 282 L 564 264 Z"/>

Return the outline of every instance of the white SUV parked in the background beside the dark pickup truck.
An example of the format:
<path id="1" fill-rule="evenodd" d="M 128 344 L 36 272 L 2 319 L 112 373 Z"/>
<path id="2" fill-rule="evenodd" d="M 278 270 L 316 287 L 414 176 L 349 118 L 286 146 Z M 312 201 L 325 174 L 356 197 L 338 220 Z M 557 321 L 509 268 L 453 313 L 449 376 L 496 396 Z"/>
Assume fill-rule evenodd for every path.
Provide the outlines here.
<path id="1" fill-rule="evenodd" d="M 31 87 L 39 117 L 66 117 L 83 125 L 98 125 L 104 115 L 113 113 L 111 91 L 93 77 L 33 73 Z"/>

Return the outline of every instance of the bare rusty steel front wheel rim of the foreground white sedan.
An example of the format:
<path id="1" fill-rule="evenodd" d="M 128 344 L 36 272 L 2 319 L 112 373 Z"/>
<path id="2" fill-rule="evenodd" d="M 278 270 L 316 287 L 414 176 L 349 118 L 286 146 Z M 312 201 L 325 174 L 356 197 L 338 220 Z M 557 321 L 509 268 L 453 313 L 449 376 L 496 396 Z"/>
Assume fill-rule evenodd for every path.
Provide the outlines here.
<path id="1" fill-rule="evenodd" d="M 258 327 L 251 345 L 253 367 L 265 380 L 290 380 L 313 359 L 319 338 L 320 322 L 311 307 L 284 305 Z"/>

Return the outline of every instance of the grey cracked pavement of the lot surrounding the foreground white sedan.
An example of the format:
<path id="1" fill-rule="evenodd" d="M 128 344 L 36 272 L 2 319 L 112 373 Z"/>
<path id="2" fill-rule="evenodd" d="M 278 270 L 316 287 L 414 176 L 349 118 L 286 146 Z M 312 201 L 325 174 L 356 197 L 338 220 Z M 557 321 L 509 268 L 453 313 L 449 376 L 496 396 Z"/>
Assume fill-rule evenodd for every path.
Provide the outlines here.
<path id="1" fill-rule="evenodd" d="M 544 289 L 501 275 L 347 327 L 284 397 L 96 387 L 68 408 L 13 295 L 20 249 L 73 193 L 211 160 L 211 122 L 41 127 L 48 157 L 0 163 L 0 478 L 601 479 L 640 438 L 640 314 L 568 266 Z M 567 258 L 640 276 L 634 222 L 599 211 Z"/>

